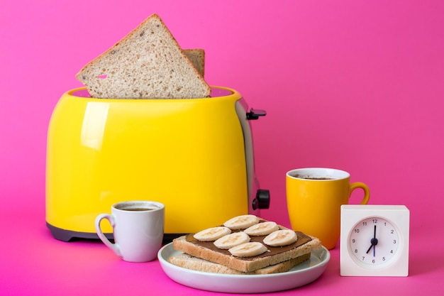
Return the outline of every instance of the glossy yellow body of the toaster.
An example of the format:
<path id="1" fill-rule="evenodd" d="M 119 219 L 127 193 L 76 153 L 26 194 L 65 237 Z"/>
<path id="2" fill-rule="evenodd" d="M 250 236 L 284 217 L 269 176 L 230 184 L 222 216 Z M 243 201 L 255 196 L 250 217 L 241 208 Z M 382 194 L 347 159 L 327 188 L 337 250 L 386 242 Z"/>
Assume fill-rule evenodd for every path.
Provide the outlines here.
<path id="1" fill-rule="evenodd" d="M 235 111 L 242 98 L 227 90 L 205 99 L 63 94 L 48 128 L 47 223 L 95 233 L 97 215 L 134 199 L 165 204 L 166 234 L 247 214 L 244 138 Z M 103 230 L 112 233 L 109 225 Z"/>

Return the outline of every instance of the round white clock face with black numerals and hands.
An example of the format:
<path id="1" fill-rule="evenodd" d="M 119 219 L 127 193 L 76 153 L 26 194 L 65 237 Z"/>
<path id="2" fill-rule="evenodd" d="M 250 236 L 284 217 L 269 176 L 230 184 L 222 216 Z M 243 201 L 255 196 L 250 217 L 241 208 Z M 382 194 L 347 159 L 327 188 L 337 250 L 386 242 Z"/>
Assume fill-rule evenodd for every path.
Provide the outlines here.
<path id="1" fill-rule="evenodd" d="M 357 263 L 387 264 L 398 251 L 398 232 L 392 222 L 382 217 L 362 219 L 350 231 L 349 251 Z"/>

